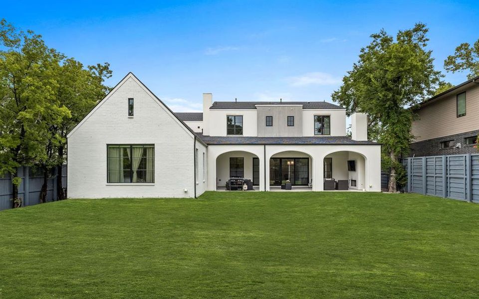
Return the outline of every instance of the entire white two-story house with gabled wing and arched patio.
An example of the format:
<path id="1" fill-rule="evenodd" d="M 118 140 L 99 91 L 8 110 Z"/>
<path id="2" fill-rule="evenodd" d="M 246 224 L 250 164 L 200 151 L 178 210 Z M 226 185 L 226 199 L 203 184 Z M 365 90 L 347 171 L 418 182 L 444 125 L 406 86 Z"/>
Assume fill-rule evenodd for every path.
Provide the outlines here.
<path id="1" fill-rule="evenodd" d="M 255 190 L 381 190 L 367 118 L 327 102 L 213 102 L 173 113 L 129 73 L 68 135 L 68 196 L 196 197 L 232 177 Z M 326 182 L 328 181 L 328 182 Z M 308 188 L 308 186 L 310 188 Z M 333 184 L 334 186 L 334 184 Z M 328 188 L 326 188 L 328 189 Z"/>

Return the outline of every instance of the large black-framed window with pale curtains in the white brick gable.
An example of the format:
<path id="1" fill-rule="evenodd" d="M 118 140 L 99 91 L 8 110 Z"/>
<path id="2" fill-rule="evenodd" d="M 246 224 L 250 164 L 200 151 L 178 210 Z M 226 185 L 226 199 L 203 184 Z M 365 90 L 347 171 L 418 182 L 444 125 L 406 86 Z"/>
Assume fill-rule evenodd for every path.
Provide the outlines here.
<path id="1" fill-rule="evenodd" d="M 154 145 L 108 145 L 109 183 L 154 183 Z"/>

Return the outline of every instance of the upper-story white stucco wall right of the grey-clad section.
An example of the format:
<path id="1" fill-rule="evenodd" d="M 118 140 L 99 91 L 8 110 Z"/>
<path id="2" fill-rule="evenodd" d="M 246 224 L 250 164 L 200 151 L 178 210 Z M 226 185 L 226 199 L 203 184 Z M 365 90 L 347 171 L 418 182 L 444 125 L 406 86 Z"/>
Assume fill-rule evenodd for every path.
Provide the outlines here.
<path id="1" fill-rule="evenodd" d="M 346 110 L 345 109 L 303 109 L 303 136 L 314 135 L 314 116 L 329 115 L 331 120 L 331 136 L 346 136 Z"/>

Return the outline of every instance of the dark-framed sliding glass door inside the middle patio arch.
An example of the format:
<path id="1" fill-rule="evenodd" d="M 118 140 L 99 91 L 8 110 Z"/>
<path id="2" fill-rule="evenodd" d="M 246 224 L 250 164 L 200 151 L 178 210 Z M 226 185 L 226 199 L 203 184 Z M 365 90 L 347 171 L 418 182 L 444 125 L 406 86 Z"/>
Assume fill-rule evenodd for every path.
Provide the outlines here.
<path id="1" fill-rule="evenodd" d="M 309 183 L 309 158 L 271 158 L 269 184 L 279 186 L 289 180 L 294 186 Z"/>

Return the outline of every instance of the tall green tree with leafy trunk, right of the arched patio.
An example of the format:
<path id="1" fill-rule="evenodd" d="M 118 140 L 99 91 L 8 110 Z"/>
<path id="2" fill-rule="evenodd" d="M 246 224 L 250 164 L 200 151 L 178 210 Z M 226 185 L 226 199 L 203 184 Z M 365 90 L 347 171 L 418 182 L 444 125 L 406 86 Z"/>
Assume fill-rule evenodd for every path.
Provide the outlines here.
<path id="1" fill-rule="evenodd" d="M 408 108 L 432 96 L 441 82 L 432 51 L 427 49 L 427 32 L 426 25 L 417 23 L 399 31 L 396 38 L 384 29 L 372 34 L 371 43 L 361 49 L 359 60 L 332 94 L 348 115 L 368 114 L 374 134 L 369 138 L 382 144 L 383 166 L 390 169 L 390 192 L 396 192 L 396 173 L 402 167 L 399 158 L 408 153 L 414 138 L 414 115 Z"/>

